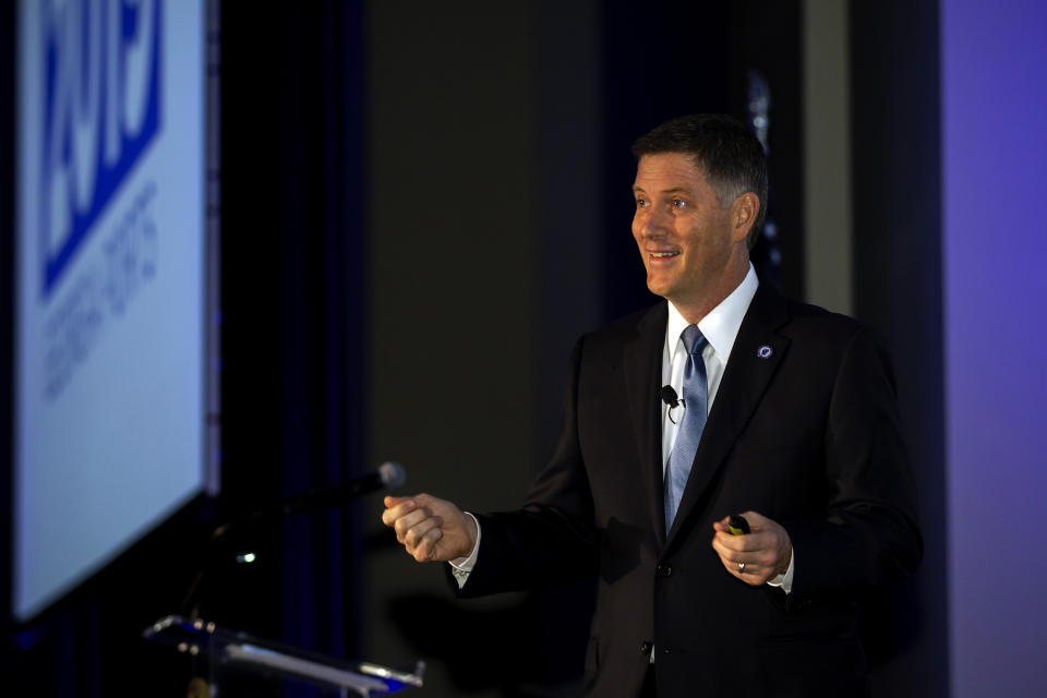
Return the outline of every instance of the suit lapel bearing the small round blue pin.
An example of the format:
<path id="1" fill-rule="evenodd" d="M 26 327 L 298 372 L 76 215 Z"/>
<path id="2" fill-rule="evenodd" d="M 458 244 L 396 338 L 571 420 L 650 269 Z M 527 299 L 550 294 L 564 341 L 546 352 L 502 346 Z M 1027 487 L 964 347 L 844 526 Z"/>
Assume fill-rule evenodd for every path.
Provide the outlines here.
<path id="1" fill-rule="evenodd" d="M 720 380 L 679 509 L 669 532 L 669 544 L 672 544 L 710 481 L 723 466 L 785 356 L 789 339 L 774 334 L 774 330 L 786 320 L 785 299 L 768 285 L 761 284 L 742 321 L 727 368 Z M 770 352 L 766 349 L 768 347 Z"/>

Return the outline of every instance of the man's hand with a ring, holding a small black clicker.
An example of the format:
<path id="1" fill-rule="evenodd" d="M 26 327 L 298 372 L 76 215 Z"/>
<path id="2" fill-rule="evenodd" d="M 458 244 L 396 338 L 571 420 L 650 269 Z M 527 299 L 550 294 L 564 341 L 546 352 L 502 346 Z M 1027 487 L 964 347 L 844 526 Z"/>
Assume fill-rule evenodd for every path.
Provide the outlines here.
<path id="1" fill-rule="evenodd" d="M 749 533 L 732 535 L 727 531 L 730 517 L 712 525 L 717 533 L 712 547 L 720 555 L 724 568 L 747 585 L 758 587 L 789 569 L 793 544 L 785 529 L 756 512 L 742 514 L 749 522 Z"/>

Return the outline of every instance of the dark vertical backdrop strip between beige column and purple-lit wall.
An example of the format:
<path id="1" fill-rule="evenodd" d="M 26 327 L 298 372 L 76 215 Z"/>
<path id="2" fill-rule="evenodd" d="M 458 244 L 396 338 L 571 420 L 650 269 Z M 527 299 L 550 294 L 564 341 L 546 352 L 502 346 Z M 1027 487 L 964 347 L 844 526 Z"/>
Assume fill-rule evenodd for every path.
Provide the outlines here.
<path id="1" fill-rule="evenodd" d="M 872 594 L 878 696 L 947 696 L 938 3 L 851 3 L 855 313 L 890 349 L 916 474 L 924 561 Z"/>

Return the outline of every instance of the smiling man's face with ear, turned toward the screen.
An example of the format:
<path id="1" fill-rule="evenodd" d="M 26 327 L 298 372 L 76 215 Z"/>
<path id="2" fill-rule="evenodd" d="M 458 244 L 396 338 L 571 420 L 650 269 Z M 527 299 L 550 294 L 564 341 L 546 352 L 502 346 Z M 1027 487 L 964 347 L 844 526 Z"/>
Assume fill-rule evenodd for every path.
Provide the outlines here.
<path id="1" fill-rule="evenodd" d="M 721 208 L 702 171 L 682 153 L 641 157 L 633 193 L 633 237 L 647 287 L 677 308 L 706 304 L 739 268 L 737 255 L 748 258 L 744 236 L 739 245 L 732 229 L 732 202 Z"/>

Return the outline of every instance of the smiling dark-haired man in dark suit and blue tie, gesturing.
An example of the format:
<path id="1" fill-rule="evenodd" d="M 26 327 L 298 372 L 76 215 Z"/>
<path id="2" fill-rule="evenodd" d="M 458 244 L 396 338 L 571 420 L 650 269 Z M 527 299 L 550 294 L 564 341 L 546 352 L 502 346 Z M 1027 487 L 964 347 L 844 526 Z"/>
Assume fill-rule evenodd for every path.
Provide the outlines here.
<path id="1" fill-rule="evenodd" d="M 767 174 L 743 124 L 685 117 L 634 152 L 633 234 L 667 302 L 579 340 L 521 509 L 423 494 L 383 521 L 464 597 L 595 574 L 589 695 L 866 695 L 855 595 L 923 551 L 888 359 L 758 284 Z"/>

